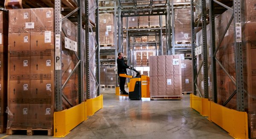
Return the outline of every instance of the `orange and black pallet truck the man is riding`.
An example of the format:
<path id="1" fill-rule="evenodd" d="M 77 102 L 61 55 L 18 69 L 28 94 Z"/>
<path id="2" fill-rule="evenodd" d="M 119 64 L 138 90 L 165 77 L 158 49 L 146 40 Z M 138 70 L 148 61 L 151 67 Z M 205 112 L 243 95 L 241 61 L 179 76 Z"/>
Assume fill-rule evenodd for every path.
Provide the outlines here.
<path id="1" fill-rule="evenodd" d="M 120 77 L 130 78 L 129 86 L 129 99 L 130 100 L 141 100 L 142 97 L 150 97 L 149 92 L 149 77 L 146 75 L 140 75 L 136 69 L 131 67 L 131 70 L 135 71 L 137 75 L 135 77 L 120 73 Z"/>

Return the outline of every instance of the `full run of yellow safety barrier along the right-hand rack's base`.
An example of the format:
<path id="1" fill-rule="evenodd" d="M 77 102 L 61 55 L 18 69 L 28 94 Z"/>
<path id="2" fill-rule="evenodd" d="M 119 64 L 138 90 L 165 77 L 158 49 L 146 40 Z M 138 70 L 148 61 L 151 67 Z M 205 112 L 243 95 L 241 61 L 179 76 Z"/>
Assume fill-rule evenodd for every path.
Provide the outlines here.
<path id="1" fill-rule="evenodd" d="M 214 122 L 230 136 L 239 139 L 248 139 L 247 113 L 226 108 L 205 98 L 190 94 L 190 107 L 209 116 L 208 120 Z"/>

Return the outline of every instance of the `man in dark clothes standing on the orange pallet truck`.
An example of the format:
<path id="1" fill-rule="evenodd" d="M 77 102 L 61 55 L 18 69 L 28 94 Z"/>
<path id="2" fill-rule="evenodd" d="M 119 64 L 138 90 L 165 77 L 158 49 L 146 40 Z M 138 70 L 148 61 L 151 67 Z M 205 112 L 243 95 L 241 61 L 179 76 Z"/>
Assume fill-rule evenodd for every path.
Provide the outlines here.
<path id="1" fill-rule="evenodd" d="M 125 64 L 124 58 L 123 58 L 123 53 L 118 53 L 118 58 L 117 58 L 117 74 L 125 73 L 126 69 L 131 69 L 127 64 Z M 128 93 L 125 91 L 125 77 L 120 77 L 119 76 L 119 86 L 120 86 L 120 95 L 128 95 Z"/>

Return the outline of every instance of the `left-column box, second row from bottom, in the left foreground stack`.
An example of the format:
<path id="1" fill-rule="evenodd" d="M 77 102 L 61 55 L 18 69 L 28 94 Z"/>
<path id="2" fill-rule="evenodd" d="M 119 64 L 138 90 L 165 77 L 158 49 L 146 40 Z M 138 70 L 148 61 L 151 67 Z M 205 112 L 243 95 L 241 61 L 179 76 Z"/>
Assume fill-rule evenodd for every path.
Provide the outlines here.
<path id="1" fill-rule="evenodd" d="M 29 104 L 30 103 L 30 81 L 9 81 L 8 98 L 9 103 Z"/>

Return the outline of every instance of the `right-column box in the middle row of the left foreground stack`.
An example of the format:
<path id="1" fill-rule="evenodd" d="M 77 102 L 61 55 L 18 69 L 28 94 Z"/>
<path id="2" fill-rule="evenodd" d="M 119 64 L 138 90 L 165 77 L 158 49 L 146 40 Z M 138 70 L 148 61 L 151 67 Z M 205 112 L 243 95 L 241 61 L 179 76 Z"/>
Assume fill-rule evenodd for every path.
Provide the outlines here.
<path id="1" fill-rule="evenodd" d="M 31 80 L 53 80 L 54 79 L 54 57 L 53 56 L 31 56 L 30 57 L 30 79 Z"/>

